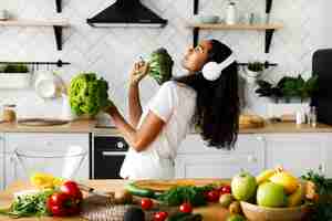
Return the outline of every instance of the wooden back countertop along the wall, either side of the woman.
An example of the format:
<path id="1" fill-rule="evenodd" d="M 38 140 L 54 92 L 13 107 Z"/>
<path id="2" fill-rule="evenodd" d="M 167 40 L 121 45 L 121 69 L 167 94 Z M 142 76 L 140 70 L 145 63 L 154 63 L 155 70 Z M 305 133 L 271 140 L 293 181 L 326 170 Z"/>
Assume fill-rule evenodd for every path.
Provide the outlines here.
<path id="1" fill-rule="evenodd" d="M 74 120 L 60 126 L 22 126 L 18 124 L 0 124 L 0 133 L 94 133 L 97 135 L 118 135 L 116 128 L 96 128 L 95 120 Z M 240 129 L 240 134 L 297 134 L 297 133 L 332 133 L 332 126 L 318 124 L 297 126 L 294 123 L 267 123 L 261 128 Z"/>

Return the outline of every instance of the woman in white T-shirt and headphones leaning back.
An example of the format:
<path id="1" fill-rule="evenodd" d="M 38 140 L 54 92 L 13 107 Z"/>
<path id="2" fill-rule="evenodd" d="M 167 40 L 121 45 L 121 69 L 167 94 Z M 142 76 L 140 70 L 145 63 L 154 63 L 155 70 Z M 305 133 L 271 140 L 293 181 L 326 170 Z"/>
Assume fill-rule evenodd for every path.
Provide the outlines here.
<path id="1" fill-rule="evenodd" d="M 131 75 L 129 124 L 115 106 L 106 112 L 131 148 L 121 169 L 126 179 L 172 179 L 177 148 L 191 126 L 209 146 L 230 148 L 238 133 L 237 64 L 231 50 L 217 40 L 188 49 L 184 77 L 166 82 L 142 110 L 138 84 L 148 64 Z"/>

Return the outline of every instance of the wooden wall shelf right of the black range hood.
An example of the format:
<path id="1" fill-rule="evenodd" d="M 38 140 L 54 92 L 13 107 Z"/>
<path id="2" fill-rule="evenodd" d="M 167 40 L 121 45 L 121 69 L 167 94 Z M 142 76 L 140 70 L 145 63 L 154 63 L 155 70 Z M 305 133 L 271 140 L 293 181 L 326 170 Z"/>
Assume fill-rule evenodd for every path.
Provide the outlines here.
<path id="1" fill-rule="evenodd" d="M 188 28 L 210 29 L 210 30 L 243 30 L 243 31 L 266 31 L 282 29 L 282 24 L 221 24 L 221 23 L 188 23 Z"/>

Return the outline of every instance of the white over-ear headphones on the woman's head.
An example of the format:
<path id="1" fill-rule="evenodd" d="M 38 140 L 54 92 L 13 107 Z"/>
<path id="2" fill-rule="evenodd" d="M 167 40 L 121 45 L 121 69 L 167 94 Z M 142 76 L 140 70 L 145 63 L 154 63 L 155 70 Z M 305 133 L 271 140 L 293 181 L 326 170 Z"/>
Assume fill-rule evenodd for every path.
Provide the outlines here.
<path id="1" fill-rule="evenodd" d="M 222 70 L 236 62 L 235 55 L 230 54 L 224 62 L 208 62 L 204 65 L 201 73 L 204 78 L 208 81 L 216 81 L 221 75 Z"/>

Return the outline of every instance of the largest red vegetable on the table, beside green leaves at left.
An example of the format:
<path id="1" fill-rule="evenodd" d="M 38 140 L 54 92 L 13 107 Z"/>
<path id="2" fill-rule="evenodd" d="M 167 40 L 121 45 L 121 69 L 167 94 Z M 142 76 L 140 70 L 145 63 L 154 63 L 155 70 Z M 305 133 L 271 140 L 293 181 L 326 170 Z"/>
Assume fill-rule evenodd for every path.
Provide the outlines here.
<path id="1" fill-rule="evenodd" d="M 46 200 L 46 208 L 54 217 L 77 214 L 80 207 L 73 198 L 64 192 L 55 192 Z"/>

